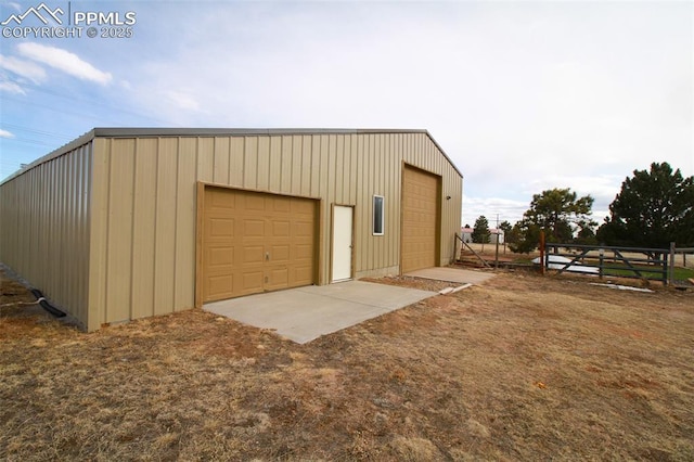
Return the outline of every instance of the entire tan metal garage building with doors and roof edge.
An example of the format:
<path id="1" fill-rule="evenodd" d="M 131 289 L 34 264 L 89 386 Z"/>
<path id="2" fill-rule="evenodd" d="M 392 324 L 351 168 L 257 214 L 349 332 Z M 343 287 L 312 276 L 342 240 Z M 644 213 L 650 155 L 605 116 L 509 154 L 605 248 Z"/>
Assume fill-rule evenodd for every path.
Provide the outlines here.
<path id="1" fill-rule="evenodd" d="M 95 128 L 0 183 L 0 261 L 88 331 L 450 264 L 426 130 Z"/>

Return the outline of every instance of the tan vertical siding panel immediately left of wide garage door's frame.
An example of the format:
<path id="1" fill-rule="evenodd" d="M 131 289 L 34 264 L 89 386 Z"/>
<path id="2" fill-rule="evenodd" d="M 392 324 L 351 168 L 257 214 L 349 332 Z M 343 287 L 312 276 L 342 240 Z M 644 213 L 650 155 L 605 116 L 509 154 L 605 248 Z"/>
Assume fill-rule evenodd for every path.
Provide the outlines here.
<path id="1" fill-rule="evenodd" d="M 176 287 L 174 310 L 195 306 L 195 151 L 194 139 L 180 140 L 176 209 Z M 228 153 L 229 151 L 227 151 Z"/>

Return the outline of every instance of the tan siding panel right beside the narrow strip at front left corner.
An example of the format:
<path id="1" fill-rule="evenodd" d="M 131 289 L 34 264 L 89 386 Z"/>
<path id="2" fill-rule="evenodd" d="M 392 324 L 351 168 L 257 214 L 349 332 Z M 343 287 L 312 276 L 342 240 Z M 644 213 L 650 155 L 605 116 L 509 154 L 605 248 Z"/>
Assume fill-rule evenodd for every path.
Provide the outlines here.
<path id="1" fill-rule="evenodd" d="M 131 318 L 133 172 L 134 139 L 114 140 L 108 189 L 106 322 Z"/>

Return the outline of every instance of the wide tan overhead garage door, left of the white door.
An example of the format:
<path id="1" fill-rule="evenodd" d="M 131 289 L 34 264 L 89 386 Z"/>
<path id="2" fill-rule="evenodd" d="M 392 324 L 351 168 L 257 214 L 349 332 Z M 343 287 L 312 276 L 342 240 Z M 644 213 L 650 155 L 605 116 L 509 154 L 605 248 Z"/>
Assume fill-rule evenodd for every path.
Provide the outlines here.
<path id="1" fill-rule="evenodd" d="M 316 201 L 205 188 L 203 300 L 310 285 Z"/>

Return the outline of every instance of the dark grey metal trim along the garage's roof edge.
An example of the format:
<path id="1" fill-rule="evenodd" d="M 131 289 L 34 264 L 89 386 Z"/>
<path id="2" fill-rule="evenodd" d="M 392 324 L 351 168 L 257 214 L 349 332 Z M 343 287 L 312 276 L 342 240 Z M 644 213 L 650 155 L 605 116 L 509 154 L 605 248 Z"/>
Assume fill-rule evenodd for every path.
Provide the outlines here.
<path id="1" fill-rule="evenodd" d="M 425 129 L 394 129 L 394 128 L 171 128 L 171 127 L 97 127 L 69 143 L 39 157 L 27 167 L 15 171 L 4 179 L 1 184 L 21 176 L 55 157 L 60 157 L 75 149 L 88 144 L 94 138 L 133 138 L 133 137 L 218 137 L 218 136 L 281 136 L 281 134 L 364 134 L 364 133 L 422 133 L 426 134 L 453 169 L 463 178 L 463 174 L 446 154 L 446 151 Z"/>

